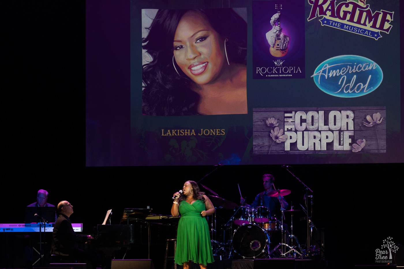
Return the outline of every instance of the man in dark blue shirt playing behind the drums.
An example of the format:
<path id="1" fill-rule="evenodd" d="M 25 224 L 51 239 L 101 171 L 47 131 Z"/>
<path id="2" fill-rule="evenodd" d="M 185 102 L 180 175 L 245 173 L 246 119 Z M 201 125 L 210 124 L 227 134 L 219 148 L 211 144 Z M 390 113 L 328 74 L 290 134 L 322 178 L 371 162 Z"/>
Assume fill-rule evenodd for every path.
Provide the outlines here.
<path id="1" fill-rule="evenodd" d="M 278 220 L 279 222 L 281 221 L 281 205 L 284 210 L 286 210 L 289 206 L 289 204 L 286 202 L 285 198 L 283 196 L 280 196 L 280 199 L 278 196 L 273 197 L 269 196 L 269 194 L 273 191 L 275 191 L 275 186 L 274 186 L 275 178 L 272 174 L 264 174 L 262 176 L 262 183 L 264 186 L 265 191 L 260 192 L 255 196 L 254 201 L 252 204 L 244 204 L 245 200 L 244 198 L 240 198 L 240 204 L 246 207 L 250 208 L 257 208 L 258 206 L 265 206 L 269 210 L 269 219 L 271 221 L 274 221 L 275 219 Z M 279 202 L 280 200 L 280 202 Z M 284 220 L 284 229 L 287 231 L 288 230 L 288 225 L 286 225 L 285 220 Z"/>

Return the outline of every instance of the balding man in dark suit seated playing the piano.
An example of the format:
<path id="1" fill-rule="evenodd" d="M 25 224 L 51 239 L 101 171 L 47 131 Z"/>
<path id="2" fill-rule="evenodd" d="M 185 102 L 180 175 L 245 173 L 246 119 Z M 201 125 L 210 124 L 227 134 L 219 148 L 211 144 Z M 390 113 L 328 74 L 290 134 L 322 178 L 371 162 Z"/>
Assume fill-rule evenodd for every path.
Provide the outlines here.
<path id="1" fill-rule="evenodd" d="M 66 260 L 86 263 L 88 269 L 96 268 L 94 254 L 79 248 L 79 243 L 85 243 L 92 239 L 91 235 L 78 234 L 73 230 L 70 215 L 73 214 L 73 206 L 67 201 L 61 201 L 57 205 L 59 216 L 52 233 L 52 254 L 63 256 Z"/>

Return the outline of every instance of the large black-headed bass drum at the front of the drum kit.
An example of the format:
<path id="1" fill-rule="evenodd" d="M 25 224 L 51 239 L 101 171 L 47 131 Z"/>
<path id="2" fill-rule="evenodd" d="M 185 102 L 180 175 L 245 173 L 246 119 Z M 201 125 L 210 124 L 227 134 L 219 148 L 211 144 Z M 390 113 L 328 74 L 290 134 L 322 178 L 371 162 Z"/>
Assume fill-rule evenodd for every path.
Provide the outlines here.
<path id="1" fill-rule="evenodd" d="M 233 235 L 233 247 L 243 258 L 259 258 L 269 246 L 269 236 L 255 224 L 243 224 Z"/>

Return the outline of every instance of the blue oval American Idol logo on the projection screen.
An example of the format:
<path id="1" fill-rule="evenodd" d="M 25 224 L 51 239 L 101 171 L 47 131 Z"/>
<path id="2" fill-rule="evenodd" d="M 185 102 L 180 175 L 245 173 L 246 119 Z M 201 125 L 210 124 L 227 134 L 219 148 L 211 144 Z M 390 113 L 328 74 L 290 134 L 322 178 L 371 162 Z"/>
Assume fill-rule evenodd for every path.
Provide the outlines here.
<path id="1" fill-rule="evenodd" d="M 347 98 L 376 90 L 383 80 L 383 72 L 377 63 L 368 58 L 340 55 L 320 63 L 311 78 L 323 92 Z"/>

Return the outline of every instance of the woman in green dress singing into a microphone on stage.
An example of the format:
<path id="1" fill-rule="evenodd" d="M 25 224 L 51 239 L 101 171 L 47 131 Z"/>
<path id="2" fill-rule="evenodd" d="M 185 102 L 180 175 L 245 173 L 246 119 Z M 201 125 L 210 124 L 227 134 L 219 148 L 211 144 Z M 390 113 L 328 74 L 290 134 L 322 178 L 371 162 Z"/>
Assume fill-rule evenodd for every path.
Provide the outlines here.
<path id="1" fill-rule="evenodd" d="M 215 207 L 195 181 L 186 181 L 182 194 L 176 192 L 173 196 L 171 215 L 181 214 L 174 261 L 183 265 L 184 269 L 188 269 L 191 262 L 199 263 L 201 269 L 206 269 L 208 263 L 214 262 L 206 216 L 215 213 Z"/>

